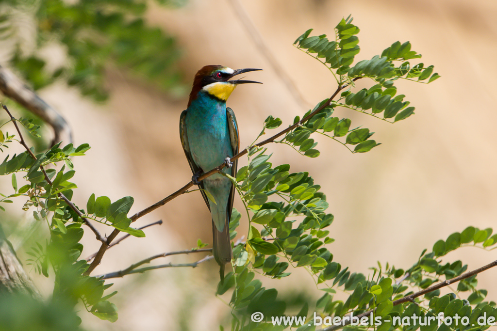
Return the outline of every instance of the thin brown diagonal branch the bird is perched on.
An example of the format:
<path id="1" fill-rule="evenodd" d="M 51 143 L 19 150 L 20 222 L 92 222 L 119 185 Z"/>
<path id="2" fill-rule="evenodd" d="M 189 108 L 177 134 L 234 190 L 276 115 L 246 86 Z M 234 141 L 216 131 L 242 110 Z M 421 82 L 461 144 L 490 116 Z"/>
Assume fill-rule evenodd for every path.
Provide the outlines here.
<path id="1" fill-rule="evenodd" d="M 353 81 L 356 81 L 357 79 L 360 79 L 360 78 L 361 77 L 356 77 L 356 78 L 353 79 Z M 298 121 L 297 123 L 289 126 L 285 130 L 276 133 L 272 137 L 267 138 L 266 140 L 261 141 L 260 143 L 256 143 L 255 145 L 252 145 L 252 146 L 249 146 L 249 147 L 245 148 L 244 150 L 242 150 L 238 154 L 234 155 L 231 158 L 231 160 L 237 160 L 240 157 L 242 157 L 245 154 L 247 154 L 248 151 L 250 151 L 251 149 L 258 148 L 260 146 L 263 146 L 265 144 L 273 142 L 276 138 L 280 137 L 281 135 L 283 135 L 283 134 L 285 134 L 287 132 L 290 132 L 293 129 L 297 128 L 298 126 L 302 125 L 302 123 L 306 122 L 307 120 L 309 120 L 310 118 L 312 118 L 314 115 L 318 114 L 323 109 L 325 109 L 326 107 L 330 106 L 331 105 L 331 101 L 338 95 L 338 93 L 340 93 L 341 90 L 343 90 L 347 86 L 349 86 L 349 84 L 345 84 L 343 86 L 339 85 L 336 88 L 336 91 L 334 91 L 333 94 L 331 95 L 330 99 L 328 99 L 328 102 L 325 102 L 321 107 L 319 107 L 315 111 L 311 112 L 309 115 L 307 115 L 306 117 L 304 117 L 302 120 Z M 203 174 L 202 176 L 200 176 L 198 178 L 198 180 L 202 181 L 202 180 L 206 179 L 209 176 L 212 176 L 212 175 L 214 175 L 216 173 L 219 173 L 225 166 L 226 165 L 224 163 L 222 163 L 221 165 L 217 166 L 216 168 L 214 168 L 214 169 L 210 170 L 209 172 L 207 172 L 207 173 Z M 194 185 L 193 182 L 190 181 L 189 183 L 187 183 L 185 186 L 183 186 L 181 189 L 177 190 L 173 194 L 167 196 L 166 198 L 160 200 L 159 202 L 156 202 L 153 205 L 151 205 L 151 206 L 149 206 L 149 207 L 147 207 L 147 208 L 145 208 L 145 209 L 137 212 L 133 216 L 131 216 L 130 217 L 131 221 L 134 222 L 137 219 L 139 219 L 140 217 L 145 216 L 146 214 L 148 214 L 148 213 L 156 210 L 157 208 L 165 205 L 170 200 L 179 197 L 180 195 L 184 194 L 193 185 Z M 114 229 L 114 231 L 112 231 L 112 233 L 110 234 L 110 236 L 107 237 L 107 241 L 105 243 L 102 242 L 102 245 L 100 246 L 100 249 L 98 250 L 97 254 L 95 255 L 95 259 L 93 259 L 93 261 L 91 262 L 90 266 L 88 267 L 88 269 L 86 270 L 86 272 L 84 274 L 86 274 L 86 275 L 90 274 L 90 272 L 93 271 L 93 269 L 95 269 L 95 267 L 100 264 L 100 262 L 102 261 L 103 255 L 105 254 L 105 251 L 107 250 L 107 248 L 109 247 L 110 243 L 112 242 L 112 240 L 114 240 L 114 238 L 117 236 L 118 233 L 119 233 L 119 230 Z"/>

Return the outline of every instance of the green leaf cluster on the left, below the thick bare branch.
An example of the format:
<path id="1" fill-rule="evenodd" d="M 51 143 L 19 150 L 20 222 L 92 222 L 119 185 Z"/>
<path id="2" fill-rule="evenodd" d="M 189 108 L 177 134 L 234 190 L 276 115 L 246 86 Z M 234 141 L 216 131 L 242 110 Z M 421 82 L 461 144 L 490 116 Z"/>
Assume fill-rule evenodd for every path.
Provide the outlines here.
<path id="1" fill-rule="evenodd" d="M 15 120 L 15 119 L 14 119 Z M 27 120 L 15 120 L 26 127 L 29 132 L 36 133 L 35 127 Z M 14 135 L 8 135 L 8 142 L 15 140 Z M 7 141 L 4 140 L 7 144 Z M 31 258 L 27 260 L 35 271 L 48 277 L 51 272 L 55 274 L 53 300 L 70 302 L 76 305 L 80 299 L 85 308 L 93 315 L 114 322 L 117 320 L 117 308 L 108 299 L 115 295 L 113 292 L 104 295 L 104 291 L 112 284 L 105 284 L 103 280 L 85 274 L 89 265 L 85 260 L 80 260 L 83 245 L 83 218 L 92 218 L 111 227 L 130 233 L 137 237 L 144 237 L 142 230 L 130 227 L 131 220 L 127 217 L 133 198 L 125 197 L 111 203 L 107 197 L 95 199 L 94 195 L 86 205 L 88 211 L 74 208 L 62 199 L 71 200 L 77 185 L 70 180 L 76 173 L 72 158 L 83 156 L 90 148 L 88 144 L 74 147 L 68 144 L 64 147 L 56 144 L 48 151 L 39 153 L 33 158 L 27 151 L 13 156 L 7 155 L 0 164 L 0 174 L 11 174 L 13 194 L 3 195 L 0 202 L 9 203 L 16 197 L 27 199 L 24 209 L 34 208 L 33 217 L 38 221 L 47 223 L 50 238 L 44 245 L 36 243 L 27 252 Z M 47 169 L 49 164 L 64 164 L 59 170 Z M 17 175 L 22 175 L 22 180 L 27 182 L 19 187 Z M 46 177 L 45 177 L 46 176 Z M 48 178 L 48 179 L 47 179 Z M 5 210 L 0 205 L 1 210 Z"/>

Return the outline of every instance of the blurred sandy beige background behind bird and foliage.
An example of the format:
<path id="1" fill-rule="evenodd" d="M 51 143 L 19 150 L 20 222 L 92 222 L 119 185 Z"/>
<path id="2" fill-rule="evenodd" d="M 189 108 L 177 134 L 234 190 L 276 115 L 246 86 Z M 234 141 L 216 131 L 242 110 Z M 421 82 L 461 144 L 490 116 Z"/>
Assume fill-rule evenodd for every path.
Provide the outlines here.
<path id="1" fill-rule="evenodd" d="M 309 28 L 333 34 L 333 27 L 352 14 L 361 28 L 357 61 L 370 59 L 393 42 L 411 41 L 422 61 L 434 65 L 442 78 L 429 86 L 399 82 L 399 91 L 416 107 L 407 121 L 390 125 L 348 110 L 337 111 L 354 125 L 376 131 L 382 142 L 366 154 L 351 154 L 343 146 L 320 140 L 322 156 L 309 159 L 288 146 L 270 146 L 273 164 L 291 163 L 293 171 L 310 171 L 322 185 L 335 215 L 329 245 L 334 261 L 368 273 L 368 267 L 390 262 L 408 268 L 424 248 L 431 249 L 453 229 L 495 227 L 497 215 L 497 2 L 495 0 L 244 0 L 241 1 L 270 52 L 277 59 L 307 107 L 335 90 L 331 74 L 317 61 L 292 46 Z M 149 23 L 177 37 L 184 50 L 180 66 L 191 83 L 207 64 L 232 68 L 257 67 L 247 74 L 264 85 L 239 87 L 228 105 L 247 146 L 269 115 L 284 125 L 303 114 L 295 98 L 275 74 L 240 22 L 231 1 L 189 0 L 179 9 L 152 6 Z M 135 197 L 132 212 L 166 197 L 191 177 L 178 137 L 179 114 L 187 99 L 171 100 L 150 86 L 108 71 L 110 102 L 97 106 L 76 90 L 52 86 L 42 96 L 58 108 L 74 129 L 75 143 L 92 149 L 76 161 L 75 200 L 84 204 L 91 193 L 112 200 Z M 358 87 L 370 86 L 360 81 Z M 102 162 L 107 155 L 112 162 Z M 239 166 L 243 166 L 241 160 Z M 236 203 L 241 207 L 240 201 Z M 196 246 L 211 240 L 211 221 L 200 194 L 183 195 L 139 220 L 142 226 L 158 219 L 164 224 L 146 231 L 146 239 L 131 238 L 111 249 L 95 274 L 127 267 L 143 258 Z M 247 219 L 239 234 L 247 229 Z M 97 249 L 85 237 L 83 256 Z M 180 256 L 157 263 L 193 262 L 201 256 Z M 475 248 L 453 252 L 447 261 L 461 259 L 469 269 L 496 260 L 496 254 Z M 161 269 L 116 279 L 119 320 L 110 324 L 82 313 L 88 330 L 163 331 L 218 330 L 230 309 L 213 293 L 217 265 L 195 269 Z M 289 270 L 292 271 L 292 270 Z M 497 270 L 479 276 L 480 285 L 497 298 Z M 307 283 L 307 285 L 306 285 Z M 263 279 L 281 292 L 307 291 L 322 295 L 306 273 L 284 281 Z M 300 285 L 298 285 L 300 284 Z M 43 284 L 40 284 L 43 287 Z M 50 288 L 44 288 L 50 292 Z M 229 297 L 225 298 L 229 301 Z M 82 307 L 83 308 L 83 307 Z"/>

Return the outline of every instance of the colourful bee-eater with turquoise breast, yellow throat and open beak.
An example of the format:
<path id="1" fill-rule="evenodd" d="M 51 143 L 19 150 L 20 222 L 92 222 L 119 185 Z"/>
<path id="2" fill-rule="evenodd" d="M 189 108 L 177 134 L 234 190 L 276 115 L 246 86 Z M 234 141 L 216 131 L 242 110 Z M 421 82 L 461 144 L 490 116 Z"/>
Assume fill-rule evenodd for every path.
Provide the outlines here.
<path id="1" fill-rule="evenodd" d="M 215 173 L 202 180 L 198 178 L 225 163 L 225 174 L 236 177 L 240 138 L 235 113 L 226 107 L 226 101 L 240 84 L 258 83 L 252 80 L 229 80 L 248 71 L 262 69 L 232 69 L 227 66 L 204 66 L 195 74 L 186 110 L 181 112 L 179 135 L 186 159 L 193 173 L 192 182 L 211 212 L 214 259 L 220 266 L 221 283 L 224 281 L 225 265 L 233 257 L 229 223 L 233 209 L 235 188 L 231 180 Z M 214 201 L 212 201 L 214 199 Z"/>

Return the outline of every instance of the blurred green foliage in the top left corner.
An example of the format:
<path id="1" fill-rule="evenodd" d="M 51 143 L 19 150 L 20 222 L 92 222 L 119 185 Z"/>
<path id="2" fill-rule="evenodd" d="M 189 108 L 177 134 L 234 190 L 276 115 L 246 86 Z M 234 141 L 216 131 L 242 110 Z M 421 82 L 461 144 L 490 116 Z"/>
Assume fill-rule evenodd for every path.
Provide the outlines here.
<path id="1" fill-rule="evenodd" d="M 173 0 L 158 2 L 179 4 Z M 2 1 L 0 43 L 14 41 L 16 50 L 9 62 L 35 90 L 63 79 L 83 95 L 103 101 L 108 97 L 105 68 L 113 63 L 135 78 L 181 94 L 184 86 L 175 66 L 179 48 L 163 30 L 145 23 L 147 8 L 144 0 Z M 22 49 L 26 31 L 16 31 L 19 11 L 36 25 L 36 49 L 32 52 Z M 70 64 L 48 70 L 37 51 L 54 42 L 63 47 Z"/>

